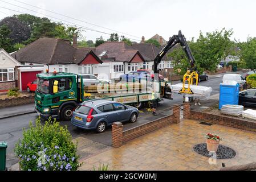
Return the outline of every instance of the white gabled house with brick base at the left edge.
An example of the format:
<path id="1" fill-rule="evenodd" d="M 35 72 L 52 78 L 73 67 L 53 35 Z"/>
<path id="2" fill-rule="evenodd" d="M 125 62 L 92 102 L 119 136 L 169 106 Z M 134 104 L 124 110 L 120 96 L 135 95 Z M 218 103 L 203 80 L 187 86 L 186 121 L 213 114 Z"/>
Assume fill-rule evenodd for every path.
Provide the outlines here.
<path id="1" fill-rule="evenodd" d="M 4 49 L 0 49 L 0 92 L 15 88 L 18 80 L 18 67 L 21 64 Z"/>

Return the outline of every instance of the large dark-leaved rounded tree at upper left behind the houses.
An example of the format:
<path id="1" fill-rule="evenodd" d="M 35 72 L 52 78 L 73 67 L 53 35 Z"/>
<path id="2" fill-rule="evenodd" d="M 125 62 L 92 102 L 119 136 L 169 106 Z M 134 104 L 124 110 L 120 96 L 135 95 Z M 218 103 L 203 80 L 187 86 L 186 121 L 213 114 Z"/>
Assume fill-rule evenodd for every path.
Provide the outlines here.
<path id="1" fill-rule="evenodd" d="M 31 28 L 26 23 L 21 22 L 18 18 L 8 16 L 3 18 L 0 22 L 0 26 L 6 24 L 11 30 L 9 38 L 12 40 L 12 44 L 22 43 L 30 38 Z"/>

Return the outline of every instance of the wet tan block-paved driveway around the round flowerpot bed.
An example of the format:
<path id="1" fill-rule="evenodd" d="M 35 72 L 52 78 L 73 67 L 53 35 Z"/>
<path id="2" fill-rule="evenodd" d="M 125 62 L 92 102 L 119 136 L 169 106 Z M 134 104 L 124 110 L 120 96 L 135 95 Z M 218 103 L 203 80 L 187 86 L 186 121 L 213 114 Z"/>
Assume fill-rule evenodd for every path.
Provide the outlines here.
<path id="1" fill-rule="evenodd" d="M 216 133 L 223 140 L 220 144 L 233 148 L 233 159 L 217 160 L 210 165 L 205 156 L 193 151 L 193 146 L 204 143 L 206 133 Z M 256 162 L 256 133 L 231 127 L 201 125 L 185 120 L 132 140 L 120 148 L 108 148 L 101 154 L 83 160 L 80 170 L 109 164 L 114 170 L 219 170 L 226 167 Z"/>

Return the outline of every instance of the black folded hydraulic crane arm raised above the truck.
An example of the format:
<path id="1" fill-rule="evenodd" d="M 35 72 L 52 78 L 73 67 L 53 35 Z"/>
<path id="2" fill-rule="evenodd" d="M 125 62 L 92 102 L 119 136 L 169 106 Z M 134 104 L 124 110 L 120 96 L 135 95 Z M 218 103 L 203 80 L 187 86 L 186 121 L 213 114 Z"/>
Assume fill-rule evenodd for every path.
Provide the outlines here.
<path id="1" fill-rule="evenodd" d="M 178 35 L 173 35 L 172 38 L 169 39 L 166 46 L 156 56 L 154 60 L 154 65 L 153 65 L 154 73 L 157 73 L 157 74 L 159 73 L 159 69 L 157 67 L 158 67 L 158 64 L 161 62 L 162 57 L 164 57 L 164 55 L 169 51 L 169 49 L 174 47 L 177 43 L 180 43 L 180 45 L 184 49 L 186 56 L 188 56 L 191 68 L 193 70 L 194 63 L 195 63 L 194 57 L 192 55 L 192 52 L 190 51 L 190 48 L 188 46 L 188 43 L 186 42 L 184 35 L 182 35 L 181 31 L 178 31 Z"/>

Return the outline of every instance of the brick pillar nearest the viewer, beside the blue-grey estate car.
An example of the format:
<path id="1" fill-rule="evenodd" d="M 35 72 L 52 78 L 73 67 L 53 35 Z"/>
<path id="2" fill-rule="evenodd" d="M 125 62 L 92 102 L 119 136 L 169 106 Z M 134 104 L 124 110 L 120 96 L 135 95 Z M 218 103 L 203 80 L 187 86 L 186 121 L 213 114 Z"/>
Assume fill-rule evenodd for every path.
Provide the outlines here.
<path id="1" fill-rule="evenodd" d="M 123 145 L 123 125 L 115 122 L 112 125 L 112 146 L 121 147 Z"/>

